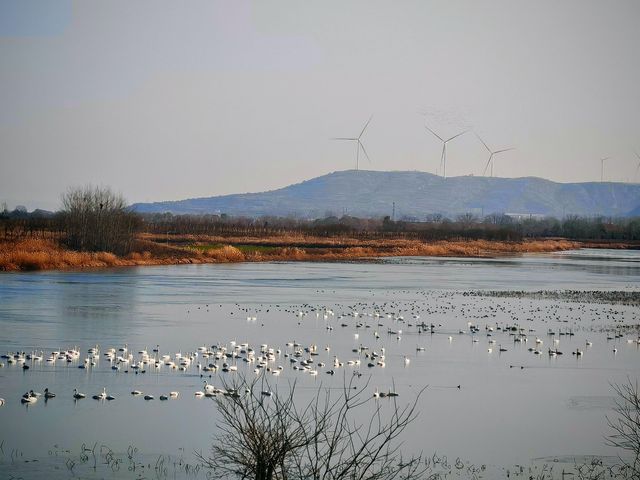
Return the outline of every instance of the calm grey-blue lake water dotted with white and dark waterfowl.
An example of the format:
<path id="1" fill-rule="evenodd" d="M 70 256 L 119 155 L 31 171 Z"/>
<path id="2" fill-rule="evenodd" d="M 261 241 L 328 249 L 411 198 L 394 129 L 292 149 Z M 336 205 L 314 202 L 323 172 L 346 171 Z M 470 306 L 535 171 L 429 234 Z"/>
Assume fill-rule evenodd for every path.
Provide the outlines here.
<path id="1" fill-rule="evenodd" d="M 241 355 L 230 360 L 237 373 L 203 372 L 197 364 L 213 360 L 200 351 L 184 371 L 143 366 L 143 374 L 131 363 L 113 370 L 104 352 L 126 347 L 135 362 L 143 349 L 175 358 L 201 346 L 232 350 L 245 342 L 280 349 L 271 367 L 281 366 L 281 374 L 262 374 L 270 375 L 274 389 L 296 381 L 301 401 L 318 388 L 339 389 L 354 372 L 371 395 L 393 389 L 401 404 L 426 387 L 419 417 L 405 432 L 410 453 L 493 465 L 616 455 L 604 443 L 605 416 L 612 414 L 611 384 L 640 371 L 637 305 L 526 292 L 639 287 L 640 252 L 612 250 L 2 274 L 0 354 L 42 351 L 44 358 L 26 360 L 28 370 L 0 360 L 6 401 L 0 471 L 38 478 L 37 468 L 16 466 L 13 457 L 46 459 L 83 443 L 119 452 L 133 445 L 149 455 L 206 451 L 216 433 L 215 403 L 194 393 L 204 379 L 219 386 L 225 376 L 254 376 L 255 364 Z M 504 293 L 516 291 L 525 293 Z M 522 335 L 507 326 L 522 328 Z M 288 356 L 294 347 L 287 346 L 293 342 L 318 346 L 317 375 L 294 369 Z M 100 350 L 96 365 L 78 368 L 94 346 Z M 367 367 L 364 353 L 382 348 L 385 366 Z M 549 348 L 563 355 L 551 356 Z M 80 357 L 46 361 L 52 351 L 68 349 Z M 583 353 L 572 354 L 576 350 Z M 336 357 L 343 365 L 327 375 Z M 326 366 L 317 367 L 320 361 Z M 47 387 L 55 398 L 21 403 L 24 392 Z M 75 388 L 87 398 L 74 401 Z M 103 388 L 115 400 L 90 398 Z M 134 389 L 155 400 L 132 396 Z M 169 391 L 180 395 L 158 400 Z"/>

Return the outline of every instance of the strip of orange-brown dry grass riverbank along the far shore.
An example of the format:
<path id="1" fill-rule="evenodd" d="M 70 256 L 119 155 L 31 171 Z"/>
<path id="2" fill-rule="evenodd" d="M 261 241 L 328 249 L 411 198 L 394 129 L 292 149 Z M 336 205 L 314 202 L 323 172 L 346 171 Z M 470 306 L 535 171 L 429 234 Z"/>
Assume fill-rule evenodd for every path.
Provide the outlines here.
<path id="1" fill-rule="evenodd" d="M 625 244 L 594 244 L 562 239 L 518 242 L 487 240 L 418 240 L 285 237 L 154 237 L 142 235 L 134 252 L 77 252 L 49 239 L 29 238 L 0 243 L 0 271 L 64 270 L 140 265 L 178 265 L 271 261 L 357 261 L 376 257 L 496 257 L 545 253 L 581 247 L 626 248 Z"/>

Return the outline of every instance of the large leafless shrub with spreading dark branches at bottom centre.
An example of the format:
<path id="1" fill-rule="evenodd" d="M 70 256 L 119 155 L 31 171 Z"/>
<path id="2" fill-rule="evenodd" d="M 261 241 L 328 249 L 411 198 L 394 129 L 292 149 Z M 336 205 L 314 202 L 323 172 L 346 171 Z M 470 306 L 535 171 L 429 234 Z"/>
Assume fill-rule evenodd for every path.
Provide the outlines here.
<path id="1" fill-rule="evenodd" d="M 400 436 L 416 418 L 416 399 L 376 401 L 355 380 L 345 379 L 339 395 L 320 387 L 315 400 L 298 406 L 295 383 L 271 392 L 264 379 L 237 377 L 215 398 L 220 431 L 206 467 L 222 476 L 256 480 L 412 480 L 426 466 L 422 456 L 404 458 Z M 385 414 L 389 407 L 390 413 Z M 365 409 L 371 408 L 372 411 Z M 357 415 L 368 418 L 359 423 Z"/>

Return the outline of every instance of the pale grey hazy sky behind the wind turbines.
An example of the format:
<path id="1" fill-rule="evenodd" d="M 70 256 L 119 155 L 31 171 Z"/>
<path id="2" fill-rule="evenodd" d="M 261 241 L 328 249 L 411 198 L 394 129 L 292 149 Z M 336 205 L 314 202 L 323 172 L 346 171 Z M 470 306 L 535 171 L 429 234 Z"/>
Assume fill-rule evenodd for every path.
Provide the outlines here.
<path id="1" fill-rule="evenodd" d="M 355 168 L 640 181 L 636 0 L 0 0 L 0 203 Z"/>

